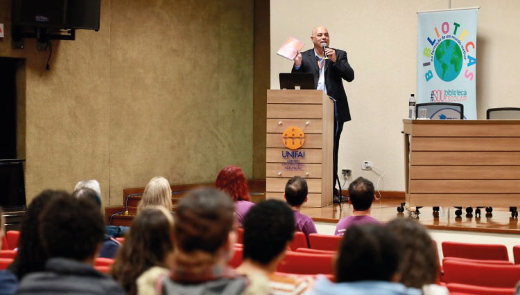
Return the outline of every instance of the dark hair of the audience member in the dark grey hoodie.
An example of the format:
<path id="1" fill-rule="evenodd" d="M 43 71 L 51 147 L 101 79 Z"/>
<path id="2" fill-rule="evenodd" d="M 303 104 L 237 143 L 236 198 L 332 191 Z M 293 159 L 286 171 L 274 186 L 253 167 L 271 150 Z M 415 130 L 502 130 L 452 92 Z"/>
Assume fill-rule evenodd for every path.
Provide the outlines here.
<path id="1" fill-rule="evenodd" d="M 92 199 L 56 197 L 40 215 L 40 239 L 49 258 L 84 261 L 105 238 L 105 222 Z"/>

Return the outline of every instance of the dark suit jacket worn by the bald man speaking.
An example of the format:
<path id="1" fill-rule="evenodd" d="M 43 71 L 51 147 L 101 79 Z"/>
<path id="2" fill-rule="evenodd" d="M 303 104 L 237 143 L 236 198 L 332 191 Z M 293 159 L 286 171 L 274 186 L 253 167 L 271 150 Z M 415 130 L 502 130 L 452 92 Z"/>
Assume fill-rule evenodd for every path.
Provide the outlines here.
<path id="1" fill-rule="evenodd" d="M 340 49 L 336 50 L 336 63 L 331 60 L 325 60 L 325 87 L 327 87 L 327 94 L 334 98 L 336 107 L 338 109 L 338 120 L 340 122 L 347 122 L 351 120 L 349 102 L 347 101 L 347 94 L 343 88 L 343 80 L 352 82 L 354 80 L 354 70 L 349 65 L 347 60 L 347 53 Z M 293 73 L 312 73 L 314 75 L 314 87 L 318 85 L 318 78 L 320 78 L 320 68 L 316 62 L 314 55 L 314 48 L 302 52 L 302 66 L 300 69 L 295 69 L 293 66 Z"/>

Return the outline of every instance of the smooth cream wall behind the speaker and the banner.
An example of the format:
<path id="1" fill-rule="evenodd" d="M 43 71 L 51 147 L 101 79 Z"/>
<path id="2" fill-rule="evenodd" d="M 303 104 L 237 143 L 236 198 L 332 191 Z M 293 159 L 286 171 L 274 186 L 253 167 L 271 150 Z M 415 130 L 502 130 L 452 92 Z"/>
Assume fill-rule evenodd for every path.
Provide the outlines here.
<path id="1" fill-rule="evenodd" d="M 352 121 L 340 141 L 338 169 L 353 177 L 380 181 L 381 190 L 404 190 L 402 118 L 408 98 L 416 93 L 417 11 L 446 9 L 447 0 L 271 1 L 271 88 L 279 89 L 278 73 L 292 62 L 276 55 L 288 36 L 312 48 L 311 29 L 327 26 L 330 45 L 347 51 L 356 78 L 344 81 Z M 520 1 L 451 0 L 451 8 L 480 6 L 478 15 L 477 107 L 485 119 L 488 107 L 520 106 L 517 93 L 517 27 Z M 380 170 L 361 170 L 372 161 Z M 351 178 L 352 180 L 352 178 Z M 343 182 L 343 179 L 342 179 Z"/>

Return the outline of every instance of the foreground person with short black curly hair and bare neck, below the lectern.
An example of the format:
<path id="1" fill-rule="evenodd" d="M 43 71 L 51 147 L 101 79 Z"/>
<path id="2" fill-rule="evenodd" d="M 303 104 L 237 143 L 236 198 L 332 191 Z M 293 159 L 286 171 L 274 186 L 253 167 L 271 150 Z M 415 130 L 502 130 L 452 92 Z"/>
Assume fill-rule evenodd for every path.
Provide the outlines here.
<path id="1" fill-rule="evenodd" d="M 270 199 L 252 207 L 245 215 L 243 262 L 236 271 L 263 276 L 272 294 L 302 294 L 309 286 L 306 280 L 275 274 L 294 233 L 293 212 L 284 202 Z"/>

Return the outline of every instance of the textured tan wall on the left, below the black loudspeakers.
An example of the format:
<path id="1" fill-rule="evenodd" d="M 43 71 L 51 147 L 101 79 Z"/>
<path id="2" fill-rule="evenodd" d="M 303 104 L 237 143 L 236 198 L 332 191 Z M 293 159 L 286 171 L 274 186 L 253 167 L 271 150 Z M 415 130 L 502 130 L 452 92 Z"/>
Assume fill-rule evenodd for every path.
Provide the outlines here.
<path id="1" fill-rule="evenodd" d="M 252 176 L 252 1 L 102 0 L 101 30 L 37 51 L 10 42 L 0 0 L 0 56 L 26 59 L 26 192 L 101 182 L 105 204 L 162 175 Z"/>

